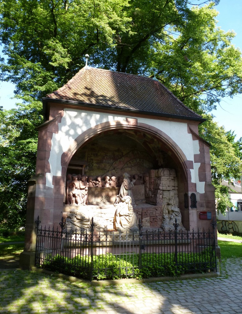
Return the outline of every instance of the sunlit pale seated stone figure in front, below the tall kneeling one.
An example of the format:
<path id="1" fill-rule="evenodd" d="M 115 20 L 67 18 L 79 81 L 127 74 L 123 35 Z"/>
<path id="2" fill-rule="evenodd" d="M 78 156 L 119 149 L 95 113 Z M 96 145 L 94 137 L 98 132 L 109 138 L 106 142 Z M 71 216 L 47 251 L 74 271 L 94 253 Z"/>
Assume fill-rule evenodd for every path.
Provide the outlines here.
<path id="1" fill-rule="evenodd" d="M 116 230 L 126 231 L 138 229 L 138 221 L 132 206 L 130 196 L 124 196 L 114 216 L 114 228 Z"/>

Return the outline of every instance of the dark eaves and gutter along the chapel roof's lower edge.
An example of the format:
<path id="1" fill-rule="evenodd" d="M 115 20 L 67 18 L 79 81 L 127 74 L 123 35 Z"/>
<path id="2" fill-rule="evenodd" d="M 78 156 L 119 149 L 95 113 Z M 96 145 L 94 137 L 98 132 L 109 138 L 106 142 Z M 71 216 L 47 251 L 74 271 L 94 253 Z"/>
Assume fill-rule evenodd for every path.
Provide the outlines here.
<path id="1" fill-rule="evenodd" d="M 80 106 L 80 107 L 90 107 L 94 109 L 109 109 L 112 111 L 121 111 L 121 112 L 132 112 L 132 113 L 140 113 L 143 115 L 149 115 L 149 116 L 163 116 L 168 118 L 175 118 L 175 119 L 183 119 L 183 120 L 193 120 L 193 121 L 199 121 L 204 122 L 206 119 L 199 118 L 199 117 L 192 117 L 192 116 L 180 116 L 180 115 L 174 115 L 169 113 L 160 113 L 160 112 L 153 112 L 153 111 L 142 111 L 142 110 L 136 110 L 136 109 L 127 109 L 122 107 L 114 107 L 114 106 L 104 106 L 104 105 L 97 105 L 97 104 L 90 104 L 80 101 L 72 101 L 72 100 L 63 100 L 63 99 L 53 99 L 48 97 L 43 97 L 43 115 L 44 115 L 44 121 L 47 119 L 47 103 L 53 102 L 53 103 L 59 103 L 63 105 L 71 105 L 71 106 Z"/>

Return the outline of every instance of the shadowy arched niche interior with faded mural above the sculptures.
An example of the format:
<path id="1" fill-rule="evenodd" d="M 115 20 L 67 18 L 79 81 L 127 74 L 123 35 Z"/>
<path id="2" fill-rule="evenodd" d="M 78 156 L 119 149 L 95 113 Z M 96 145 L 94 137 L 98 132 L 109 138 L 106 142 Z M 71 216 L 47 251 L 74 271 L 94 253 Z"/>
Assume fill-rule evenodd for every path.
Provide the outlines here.
<path id="1" fill-rule="evenodd" d="M 140 184 L 144 186 L 144 197 L 141 197 L 143 201 L 162 208 L 162 200 L 158 199 L 160 196 L 162 198 L 162 193 L 157 190 L 172 189 L 178 199 L 177 205 L 184 215 L 184 193 L 188 191 L 185 160 L 178 146 L 160 130 L 151 127 L 148 129 L 141 124 L 132 127 L 123 124 L 103 126 L 96 132 L 89 130 L 89 133 L 82 134 L 75 140 L 69 154 L 65 154 L 65 175 L 81 174 L 91 176 L 94 180 L 98 176 L 102 179 L 104 176 L 116 176 L 119 187 L 124 172 L 129 173 L 131 178 L 138 175 Z M 64 160 L 62 161 L 64 166 Z M 160 176 L 160 173 L 154 172 L 159 169 L 166 169 L 165 179 L 167 182 L 173 180 L 172 187 L 169 182 L 164 187 L 161 187 L 161 181 L 158 185 L 151 182 Z M 188 221 L 184 222 L 185 226 L 188 224 Z"/>

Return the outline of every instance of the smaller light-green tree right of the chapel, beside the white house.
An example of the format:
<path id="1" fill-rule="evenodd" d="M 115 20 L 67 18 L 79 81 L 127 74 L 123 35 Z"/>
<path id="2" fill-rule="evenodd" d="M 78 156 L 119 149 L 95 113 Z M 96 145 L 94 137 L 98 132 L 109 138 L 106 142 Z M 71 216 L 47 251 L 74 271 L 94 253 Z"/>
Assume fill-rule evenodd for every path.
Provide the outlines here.
<path id="1" fill-rule="evenodd" d="M 242 173 L 242 138 L 235 142 L 234 132 L 226 132 L 224 127 L 219 127 L 211 115 L 204 115 L 204 118 L 207 121 L 199 126 L 199 131 L 202 138 L 211 144 L 210 158 L 212 183 L 216 188 L 216 208 L 218 212 L 224 214 L 227 206 L 233 206 L 229 200 L 229 191 L 233 190 L 233 184 L 229 188 L 222 185 L 222 181 L 231 182 L 232 179 L 240 178 Z"/>

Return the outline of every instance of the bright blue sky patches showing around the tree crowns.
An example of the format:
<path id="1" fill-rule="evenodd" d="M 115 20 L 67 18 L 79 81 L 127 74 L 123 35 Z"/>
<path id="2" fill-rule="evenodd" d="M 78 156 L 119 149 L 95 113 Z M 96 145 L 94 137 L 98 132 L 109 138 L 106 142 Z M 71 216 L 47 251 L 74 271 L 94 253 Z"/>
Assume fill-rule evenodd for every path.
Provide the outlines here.
<path id="1" fill-rule="evenodd" d="M 201 1 L 202 2 L 202 1 Z M 194 3 L 194 2 L 193 2 Z M 199 3 L 199 0 L 196 1 Z M 222 30 L 234 30 L 236 37 L 233 40 L 235 47 L 242 50 L 242 0 L 220 0 L 216 6 L 219 15 L 217 16 L 218 26 Z M 0 82 L 0 105 L 4 109 L 13 108 L 16 100 L 13 97 L 14 85 L 11 83 Z M 225 98 L 217 106 L 217 110 L 212 111 L 214 120 L 219 126 L 224 126 L 225 130 L 235 131 L 236 139 L 242 137 L 241 118 L 242 118 L 242 95 L 235 95 L 233 99 Z"/>

